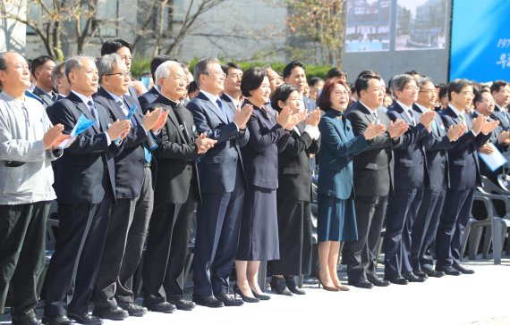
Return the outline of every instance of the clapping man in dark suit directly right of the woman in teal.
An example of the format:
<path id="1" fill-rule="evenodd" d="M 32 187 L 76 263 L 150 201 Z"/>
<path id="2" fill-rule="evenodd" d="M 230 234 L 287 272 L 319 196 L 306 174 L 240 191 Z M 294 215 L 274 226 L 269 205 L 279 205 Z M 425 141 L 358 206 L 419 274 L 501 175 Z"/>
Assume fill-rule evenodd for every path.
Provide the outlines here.
<path id="1" fill-rule="evenodd" d="M 380 86 L 378 75 L 362 74 L 356 79 L 355 87 L 360 100 L 347 115 L 353 124 L 354 135 L 362 134 L 372 121 L 384 124 L 387 132 L 375 137 L 367 150 L 353 157 L 358 240 L 345 243 L 347 276 L 349 284 L 355 287 L 386 287 L 388 282 L 378 279 L 374 252 L 386 213 L 387 196 L 392 187 L 392 149 L 401 145 L 400 136 L 407 129 L 407 123 L 392 122 L 385 112 L 378 110 L 386 92 Z"/>

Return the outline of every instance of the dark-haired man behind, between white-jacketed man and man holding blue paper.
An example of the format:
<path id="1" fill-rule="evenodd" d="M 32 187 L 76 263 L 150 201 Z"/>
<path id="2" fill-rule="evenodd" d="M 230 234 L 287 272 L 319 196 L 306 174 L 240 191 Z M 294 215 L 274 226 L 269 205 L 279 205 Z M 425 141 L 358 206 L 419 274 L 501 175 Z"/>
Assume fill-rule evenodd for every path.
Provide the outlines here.
<path id="1" fill-rule="evenodd" d="M 54 83 L 51 79 L 51 71 L 54 67 L 55 59 L 49 55 L 36 57 L 32 60 L 30 66 L 30 72 L 38 82 L 38 85 L 34 87 L 32 94 L 41 99 L 45 108 L 53 104 L 56 99 L 56 94 L 53 91 Z"/>

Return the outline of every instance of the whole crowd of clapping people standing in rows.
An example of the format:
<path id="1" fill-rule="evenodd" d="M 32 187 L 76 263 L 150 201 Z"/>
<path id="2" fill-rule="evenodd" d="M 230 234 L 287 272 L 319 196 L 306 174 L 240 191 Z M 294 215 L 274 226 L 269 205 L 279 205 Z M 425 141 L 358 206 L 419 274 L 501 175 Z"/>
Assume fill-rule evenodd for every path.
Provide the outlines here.
<path id="1" fill-rule="evenodd" d="M 295 278 L 311 269 L 314 172 L 327 291 L 473 272 L 461 238 L 480 175 L 500 172 L 479 153 L 510 145 L 506 81 L 455 79 L 446 103 L 416 71 L 387 88 L 377 71 L 349 85 L 334 68 L 309 85 L 297 61 L 279 73 L 204 57 L 191 74 L 160 55 L 147 90 L 132 80 L 131 59 L 123 39 L 106 41 L 97 59 L 42 55 L 30 68 L 21 54 L 0 54 L 0 313 L 8 299 L 13 324 L 38 324 L 53 200 L 58 238 L 40 296 L 49 325 L 269 300 L 260 261 L 274 293 L 306 294 Z M 195 217 L 190 301 L 183 271 Z M 142 254 L 139 305 L 129 279 Z"/>

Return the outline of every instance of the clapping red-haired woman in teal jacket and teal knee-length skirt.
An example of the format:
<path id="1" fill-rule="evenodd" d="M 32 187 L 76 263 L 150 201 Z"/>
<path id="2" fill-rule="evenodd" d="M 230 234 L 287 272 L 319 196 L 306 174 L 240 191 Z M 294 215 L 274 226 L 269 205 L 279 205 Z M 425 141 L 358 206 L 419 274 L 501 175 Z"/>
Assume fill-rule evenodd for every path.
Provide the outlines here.
<path id="1" fill-rule="evenodd" d="M 357 137 L 344 117 L 350 102 L 349 87 L 340 79 L 328 80 L 318 104 L 325 111 L 319 123 L 319 283 L 328 291 L 347 291 L 336 274 L 340 242 L 356 240 L 353 202 L 353 155 L 370 146 L 370 140 L 385 131 L 384 125 L 370 124 Z"/>

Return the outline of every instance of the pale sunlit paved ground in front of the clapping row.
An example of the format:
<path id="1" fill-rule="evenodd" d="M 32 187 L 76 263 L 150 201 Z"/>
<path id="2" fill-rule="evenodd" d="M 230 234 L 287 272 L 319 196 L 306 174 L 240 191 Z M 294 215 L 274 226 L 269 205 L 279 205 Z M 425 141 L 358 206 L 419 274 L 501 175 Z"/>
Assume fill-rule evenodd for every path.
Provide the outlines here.
<path id="1" fill-rule="evenodd" d="M 271 300 L 242 307 L 173 314 L 149 312 L 143 318 L 105 321 L 106 324 L 510 324 L 510 258 L 502 265 L 492 261 L 466 262 L 473 275 L 446 276 L 408 286 L 391 285 L 349 292 L 327 292 L 305 287 L 305 296 L 271 295 Z M 341 270 L 344 278 L 344 272 Z M 38 313 L 41 311 L 39 310 Z M 0 324 L 9 324 L 0 315 Z"/>

